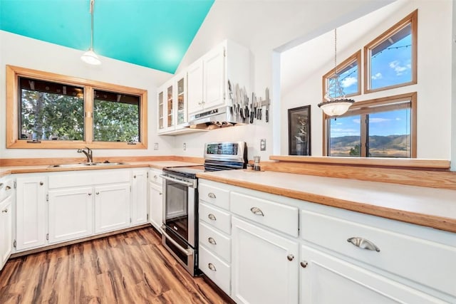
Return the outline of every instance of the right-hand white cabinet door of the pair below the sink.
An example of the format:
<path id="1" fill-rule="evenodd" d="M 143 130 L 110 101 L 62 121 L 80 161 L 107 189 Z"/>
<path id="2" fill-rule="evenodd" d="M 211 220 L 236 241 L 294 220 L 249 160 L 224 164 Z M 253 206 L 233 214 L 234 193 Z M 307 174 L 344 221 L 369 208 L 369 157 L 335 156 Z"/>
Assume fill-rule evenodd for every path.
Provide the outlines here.
<path id="1" fill-rule="evenodd" d="M 95 187 L 95 234 L 130 226 L 130 184 Z"/>

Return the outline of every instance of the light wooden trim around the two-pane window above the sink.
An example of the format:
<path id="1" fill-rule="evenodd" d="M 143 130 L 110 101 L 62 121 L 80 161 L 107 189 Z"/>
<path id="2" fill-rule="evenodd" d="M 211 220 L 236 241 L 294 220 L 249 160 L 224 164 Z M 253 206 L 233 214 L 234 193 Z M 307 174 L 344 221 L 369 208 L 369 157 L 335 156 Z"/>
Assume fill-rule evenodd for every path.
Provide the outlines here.
<path id="1" fill-rule="evenodd" d="M 27 143 L 26 140 L 19 140 L 19 76 L 83 86 L 85 91 L 84 112 L 90 113 L 93 112 L 94 89 L 140 96 L 140 142 L 136 142 L 135 145 L 128 142 L 93 142 L 93 115 L 84 115 L 85 140 L 43 140 L 33 144 Z M 90 149 L 147 149 L 147 90 L 6 65 L 6 148 L 78 149 L 81 147 L 89 147 Z"/>

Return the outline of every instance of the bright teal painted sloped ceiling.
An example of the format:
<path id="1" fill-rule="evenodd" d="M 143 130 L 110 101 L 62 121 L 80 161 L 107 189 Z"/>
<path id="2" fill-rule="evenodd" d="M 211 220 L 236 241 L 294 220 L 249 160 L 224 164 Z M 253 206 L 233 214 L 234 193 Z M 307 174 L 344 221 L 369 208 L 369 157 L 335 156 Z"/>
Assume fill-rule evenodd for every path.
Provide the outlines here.
<path id="1" fill-rule="evenodd" d="M 174 73 L 214 0 L 95 0 L 100 56 Z M 0 0 L 0 29 L 87 51 L 90 0 Z"/>

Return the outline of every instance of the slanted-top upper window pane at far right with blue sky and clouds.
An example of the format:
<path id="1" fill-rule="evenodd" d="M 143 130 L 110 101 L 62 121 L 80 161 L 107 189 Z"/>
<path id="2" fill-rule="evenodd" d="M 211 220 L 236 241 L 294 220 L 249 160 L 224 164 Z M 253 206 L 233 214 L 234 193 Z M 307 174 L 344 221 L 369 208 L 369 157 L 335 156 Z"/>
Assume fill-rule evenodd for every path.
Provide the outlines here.
<path id="1" fill-rule="evenodd" d="M 412 81 L 412 26 L 409 23 L 371 49 L 371 89 Z"/>

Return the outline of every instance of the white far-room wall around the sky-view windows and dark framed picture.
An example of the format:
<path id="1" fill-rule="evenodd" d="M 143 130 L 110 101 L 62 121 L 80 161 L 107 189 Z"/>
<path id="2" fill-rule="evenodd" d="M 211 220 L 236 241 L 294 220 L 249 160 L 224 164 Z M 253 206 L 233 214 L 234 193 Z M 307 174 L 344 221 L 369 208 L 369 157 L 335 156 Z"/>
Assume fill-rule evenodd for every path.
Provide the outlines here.
<path id="1" fill-rule="evenodd" d="M 353 99 L 370 100 L 386 95 L 418 92 L 418 158 L 451 159 L 452 1 L 396 1 L 361 19 L 338 27 L 338 63 L 351 56 L 415 9 L 418 9 L 418 84 L 364 94 Z M 312 155 L 322 154 L 323 116 L 321 76 L 333 68 L 333 31 L 282 53 L 283 74 L 295 73 L 294 85 L 282 90 L 281 134 L 287 134 L 287 109 L 311 105 Z M 319 47 L 313 47 L 313 45 Z M 339 46 L 342 46 L 341 48 Z M 328 60 L 322 61 L 324 56 Z M 315 65 L 315 61 L 320 64 Z M 311 68 L 301 64 L 309 62 Z M 291 63 L 291 64 L 290 64 Z M 311 73 L 306 73 L 310 70 Z M 282 80 L 284 76 L 282 74 Z M 296 81 L 297 80 L 297 81 Z M 453 114 L 454 117 L 454 114 Z M 453 119 L 454 120 L 454 119 Z M 454 122 L 453 122 L 454 124 Z M 454 145 L 454 144 L 453 144 Z M 454 147 L 453 147 L 453 150 Z M 288 138 L 281 137 L 281 153 L 288 152 Z M 453 154 L 453 159 L 455 159 Z"/>

